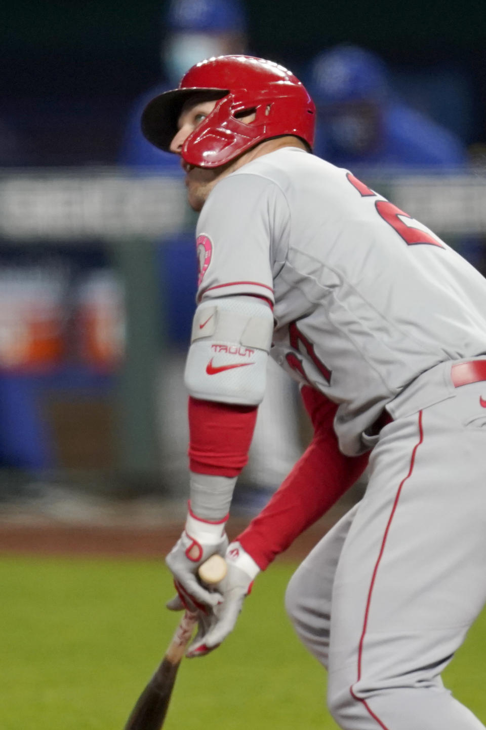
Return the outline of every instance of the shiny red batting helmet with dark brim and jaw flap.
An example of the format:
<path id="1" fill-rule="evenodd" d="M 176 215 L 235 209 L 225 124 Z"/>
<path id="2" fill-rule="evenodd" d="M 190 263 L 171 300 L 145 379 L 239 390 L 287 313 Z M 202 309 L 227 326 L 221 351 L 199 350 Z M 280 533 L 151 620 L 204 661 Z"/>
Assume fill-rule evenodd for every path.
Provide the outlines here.
<path id="1" fill-rule="evenodd" d="M 220 55 L 192 66 L 179 88 L 149 101 L 141 119 L 146 139 L 170 151 L 184 102 L 195 93 L 220 99 L 189 134 L 181 156 L 198 167 L 230 162 L 263 139 L 294 134 L 312 149 L 315 106 L 302 83 L 273 61 L 248 55 Z M 240 117 L 255 112 L 251 123 Z"/>

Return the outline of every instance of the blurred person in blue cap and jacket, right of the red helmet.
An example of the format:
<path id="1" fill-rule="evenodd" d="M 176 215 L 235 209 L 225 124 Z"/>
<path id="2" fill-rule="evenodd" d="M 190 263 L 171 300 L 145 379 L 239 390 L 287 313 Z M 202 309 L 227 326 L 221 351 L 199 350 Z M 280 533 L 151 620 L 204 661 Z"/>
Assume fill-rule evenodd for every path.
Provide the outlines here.
<path id="1" fill-rule="evenodd" d="M 307 84 L 318 109 L 315 154 L 349 167 L 442 167 L 466 164 L 452 132 L 401 101 L 383 60 L 340 44 L 319 53 Z"/>

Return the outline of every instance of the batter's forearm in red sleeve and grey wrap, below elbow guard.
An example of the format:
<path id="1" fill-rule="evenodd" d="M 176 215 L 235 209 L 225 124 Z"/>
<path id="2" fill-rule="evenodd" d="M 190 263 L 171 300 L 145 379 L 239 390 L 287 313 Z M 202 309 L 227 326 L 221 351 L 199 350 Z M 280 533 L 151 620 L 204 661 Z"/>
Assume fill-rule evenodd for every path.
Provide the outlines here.
<path id="1" fill-rule="evenodd" d="M 255 406 L 235 406 L 189 397 L 191 509 L 204 520 L 230 511 L 236 478 L 248 461 Z"/>

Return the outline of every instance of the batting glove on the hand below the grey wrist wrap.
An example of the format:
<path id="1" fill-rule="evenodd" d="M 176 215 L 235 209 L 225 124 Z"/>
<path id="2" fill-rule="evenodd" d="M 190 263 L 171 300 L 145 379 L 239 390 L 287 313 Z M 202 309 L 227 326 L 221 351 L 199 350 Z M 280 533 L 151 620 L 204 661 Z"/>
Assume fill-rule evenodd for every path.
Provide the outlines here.
<path id="1" fill-rule="evenodd" d="M 184 531 L 165 558 L 179 593 L 167 604 L 169 609 L 179 610 L 183 603 L 189 609 L 192 604 L 192 608 L 207 612 L 208 607 L 216 606 L 222 600 L 220 593 L 208 591 L 201 585 L 197 569 L 214 553 L 224 556 L 228 545 L 225 524 L 226 520 L 218 523 L 200 520 L 189 510 Z"/>

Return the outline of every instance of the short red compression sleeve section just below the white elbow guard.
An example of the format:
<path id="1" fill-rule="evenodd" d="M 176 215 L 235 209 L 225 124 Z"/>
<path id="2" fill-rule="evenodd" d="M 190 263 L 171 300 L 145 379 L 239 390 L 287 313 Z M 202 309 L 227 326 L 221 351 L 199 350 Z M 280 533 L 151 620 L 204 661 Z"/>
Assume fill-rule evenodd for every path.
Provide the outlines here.
<path id="1" fill-rule="evenodd" d="M 189 468 L 237 477 L 248 461 L 256 406 L 200 401 L 189 396 Z"/>

